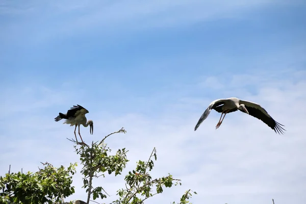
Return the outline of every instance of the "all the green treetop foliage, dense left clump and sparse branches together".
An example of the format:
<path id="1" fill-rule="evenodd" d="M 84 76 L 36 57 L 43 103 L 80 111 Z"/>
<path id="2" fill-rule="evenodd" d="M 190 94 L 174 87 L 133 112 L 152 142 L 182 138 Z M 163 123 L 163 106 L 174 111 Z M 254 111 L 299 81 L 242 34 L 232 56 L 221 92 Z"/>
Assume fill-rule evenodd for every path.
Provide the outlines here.
<path id="1" fill-rule="evenodd" d="M 125 148 L 118 149 L 115 155 L 110 155 L 111 149 L 105 143 L 105 140 L 117 133 L 126 133 L 123 127 L 114 133 L 104 137 L 103 140 L 86 143 L 77 143 L 74 146 L 75 152 L 80 156 L 83 166 L 81 174 L 83 177 L 82 188 L 86 189 L 87 201 L 92 198 L 106 198 L 107 192 L 102 186 L 95 186 L 94 180 L 98 177 L 105 177 L 108 174 L 121 174 L 129 160 L 126 157 Z M 114 204 L 141 204 L 156 194 L 162 193 L 164 188 L 171 188 L 176 185 L 182 185 L 181 180 L 174 179 L 171 174 L 160 178 L 152 179 L 149 172 L 154 167 L 154 160 L 157 160 L 157 150 L 154 148 L 148 161 L 138 161 L 135 170 L 129 171 L 125 176 L 125 188 L 117 191 L 118 198 Z M 62 203 L 64 198 L 74 193 L 74 187 L 71 187 L 72 175 L 75 173 L 75 164 L 65 169 L 63 166 L 55 168 L 49 163 L 43 164 L 44 169 L 39 169 L 36 173 L 7 173 L 5 177 L 0 177 L 0 202 L 2 203 Z M 192 193 L 186 191 L 181 197 L 180 204 L 188 203 Z M 175 202 L 173 202 L 175 203 Z"/>

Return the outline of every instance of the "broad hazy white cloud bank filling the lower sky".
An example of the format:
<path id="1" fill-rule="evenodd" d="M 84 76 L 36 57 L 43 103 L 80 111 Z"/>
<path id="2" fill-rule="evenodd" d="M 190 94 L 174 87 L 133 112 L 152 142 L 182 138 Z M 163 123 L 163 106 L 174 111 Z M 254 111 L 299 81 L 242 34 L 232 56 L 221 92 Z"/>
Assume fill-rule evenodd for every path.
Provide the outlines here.
<path id="1" fill-rule="evenodd" d="M 299 74 L 305 72 L 300 71 Z M 131 161 L 124 173 L 135 168 L 138 160 L 147 160 L 151 149 L 157 147 L 158 160 L 152 174 L 162 176 L 172 173 L 174 177 L 182 179 L 183 185 L 165 189 L 162 195 L 149 199 L 147 203 L 179 200 L 189 188 L 198 193 L 192 198 L 194 203 L 268 203 L 272 198 L 278 204 L 301 202 L 306 198 L 303 194 L 306 187 L 303 172 L 306 169 L 306 138 L 301 122 L 306 115 L 306 109 L 302 108 L 306 99 L 306 82 L 301 75 L 296 76 L 293 72 L 286 79 L 277 81 L 262 78 L 258 84 L 257 75 L 234 75 L 229 79 L 232 90 L 225 90 L 228 95 L 234 94 L 238 86 L 248 84 L 243 79 L 253 79 L 253 84 L 249 84 L 256 91 L 246 89 L 240 92 L 239 97 L 261 104 L 276 121 L 286 125 L 287 132 L 283 136 L 276 135 L 260 120 L 240 112 L 227 115 L 220 128 L 215 130 L 219 114 L 213 111 L 194 132 L 198 118 L 210 101 L 215 99 L 209 96 L 199 99 L 194 95 L 184 96 L 173 106 L 161 105 L 169 107 L 164 113 L 142 115 L 130 110 L 130 114 L 114 116 L 107 111 L 103 114 L 90 112 L 88 118 L 96 118 L 94 135 L 89 135 L 89 129 L 85 127 L 81 127 L 81 134 L 87 142 L 96 141 L 124 126 L 127 134 L 114 135 L 107 140 L 113 151 L 123 147 L 130 150 L 127 156 Z M 226 82 L 220 76 L 214 79 L 217 83 Z M 201 88 L 196 83 L 193 87 Z M 48 93 L 55 92 L 47 90 Z M 66 93 L 65 90 L 62 93 Z M 24 104 L 25 107 L 40 100 L 36 94 L 29 96 L 25 101 L 31 103 Z M 38 109 L 50 107 L 55 110 L 53 115 L 62 111 L 54 106 L 51 100 L 49 105 L 38 106 Z M 78 161 L 72 144 L 65 139 L 74 137 L 73 127 L 54 122 L 55 116 L 50 113 L 37 113 L 34 116 L 29 115 L 30 111 L 18 113 L 15 124 L 5 123 L 9 126 L 0 136 L 6 143 L 3 149 L 6 153 L 0 161 L 1 174 L 7 171 L 9 164 L 12 164 L 14 171 L 20 168 L 36 171 L 40 161 L 65 166 Z M 16 129 L 16 126 L 20 128 Z M 80 168 L 79 164 L 78 170 Z M 95 185 L 103 185 L 112 195 L 103 202 L 116 198 L 116 190 L 124 187 L 123 178 L 124 174 L 107 176 L 107 179 L 95 182 Z M 74 176 L 73 185 L 77 186 L 76 193 L 69 199 L 85 199 L 86 193 L 80 188 L 82 180 L 79 173 Z"/>

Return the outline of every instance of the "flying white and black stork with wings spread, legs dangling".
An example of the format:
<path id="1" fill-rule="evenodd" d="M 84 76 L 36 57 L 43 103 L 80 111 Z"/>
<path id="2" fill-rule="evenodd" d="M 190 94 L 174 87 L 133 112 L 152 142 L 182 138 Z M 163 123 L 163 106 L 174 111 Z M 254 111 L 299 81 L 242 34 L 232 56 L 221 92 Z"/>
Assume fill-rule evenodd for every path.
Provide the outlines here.
<path id="1" fill-rule="evenodd" d="M 218 129 L 218 127 L 221 125 L 225 115 L 227 113 L 232 113 L 235 112 L 237 110 L 242 111 L 246 114 L 249 114 L 253 117 L 256 117 L 260 120 L 262 120 L 264 123 L 266 123 L 269 127 L 271 127 L 272 130 L 275 131 L 275 133 L 284 133 L 284 131 L 286 131 L 282 126 L 282 124 L 276 122 L 269 114 L 268 112 L 261 107 L 259 104 L 253 103 L 251 101 L 246 101 L 246 100 L 240 100 L 239 98 L 226 98 L 226 99 L 217 99 L 214 100 L 209 107 L 205 110 L 205 112 L 202 114 L 202 116 L 200 117 L 199 121 L 197 122 L 197 124 L 195 125 L 194 131 L 196 131 L 196 129 L 198 128 L 198 126 L 203 122 L 203 120 L 205 120 L 209 113 L 211 112 L 211 110 L 214 109 L 215 111 L 217 111 L 218 113 L 222 113 L 222 115 L 224 114 L 222 120 L 221 117 L 219 119 L 219 122 L 216 125 L 216 129 Z"/>

